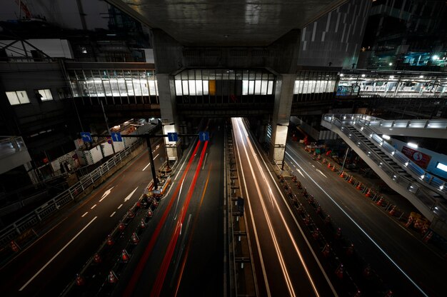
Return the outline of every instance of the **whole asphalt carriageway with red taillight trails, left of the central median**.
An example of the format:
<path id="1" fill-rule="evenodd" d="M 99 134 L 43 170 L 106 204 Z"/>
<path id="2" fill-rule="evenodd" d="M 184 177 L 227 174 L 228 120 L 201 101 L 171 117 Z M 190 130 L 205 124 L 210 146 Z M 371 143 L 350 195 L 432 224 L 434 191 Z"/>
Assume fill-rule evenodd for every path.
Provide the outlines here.
<path id="1" fill-rule="evenodd" d="M 186 151 L 113 296 L 223 296 L 223 121 L 204 129 L 210 141 Z"/>

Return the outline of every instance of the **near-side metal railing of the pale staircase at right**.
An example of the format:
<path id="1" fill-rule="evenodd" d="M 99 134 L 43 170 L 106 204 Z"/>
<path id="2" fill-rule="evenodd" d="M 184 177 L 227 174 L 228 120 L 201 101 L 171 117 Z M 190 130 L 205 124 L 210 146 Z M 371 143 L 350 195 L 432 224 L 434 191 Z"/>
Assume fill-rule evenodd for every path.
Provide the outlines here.
<path id="1" fill-rule="evenodd" d="M 444 219 L 447 218 L 446 206 L 439 203 L 439 201 L 437 201 L 436 198 L 430 195 L 424 189 L 421 183 L 411 181 L 405 176 L 401 176 L 400 173 L 398 173 L 398 171 L 396 171 L 395 168 L 386 163 L 386 161 L 383 161 L 381 156 L 379 156 L 367 144 L 365 144 L 362 139 L 359 139 L 354 134 L 350 134 L 348 127 L 343 124 L 341 119 L 338 119 L 338 116 L 340 115 L 325 114 L 323 116 L 323 121 L 327 121 L 328 123 L 331 123 L 334 126 L 338 127 L 338 129 L 340 129 L 340 131 L 342 131 L 343 134 L 348 136 L 348 138 L 351 139 L 351 141 L 357 144 L 358 148 L 360 148 L 361 151 L 363 151 L 363 153 L 365 153 L 366 156 L 368 156 L 371 159 L 371 161 L 376 163 L 376 165 L 379 168 L 381 168 L 383 173 L 386 173 L 386 175 L 389 176 L 395 183 L 402 186 L 403 188 L 406 188 L 406 191 L 416 196 L 418 200 L 421 201 L 421 203 L 423 203 L 423 205 L 425 205 L 428 209 L 430 209 L 430 211 L 432 211 L 436 216 Z"/>

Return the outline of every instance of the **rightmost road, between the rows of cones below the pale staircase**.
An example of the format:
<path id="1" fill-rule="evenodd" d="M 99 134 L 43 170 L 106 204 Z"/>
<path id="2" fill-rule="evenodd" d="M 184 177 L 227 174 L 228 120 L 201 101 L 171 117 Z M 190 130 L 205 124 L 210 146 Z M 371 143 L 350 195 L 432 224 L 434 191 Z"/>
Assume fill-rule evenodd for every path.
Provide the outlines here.
<path id="1" fill-rule="evenodd" d="M 298 144 L 288 142 L 286 161 L 396 295 L 445 296 L 445 259 Z"/>

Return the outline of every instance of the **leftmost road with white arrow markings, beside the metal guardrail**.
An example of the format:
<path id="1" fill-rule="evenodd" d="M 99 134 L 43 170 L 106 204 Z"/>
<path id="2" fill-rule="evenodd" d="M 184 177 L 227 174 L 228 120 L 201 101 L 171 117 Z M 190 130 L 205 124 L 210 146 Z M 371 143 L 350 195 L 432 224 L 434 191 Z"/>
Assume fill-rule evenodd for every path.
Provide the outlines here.
<path id="1" fill-rule="evenodd" d="M 154 144 L 154 156 L 164 156 Z M 0 270 L 6 296 L 57 296 L 151 181 L 145 150 Z M 159 160 L 156 160 L 159 163 Z"/>

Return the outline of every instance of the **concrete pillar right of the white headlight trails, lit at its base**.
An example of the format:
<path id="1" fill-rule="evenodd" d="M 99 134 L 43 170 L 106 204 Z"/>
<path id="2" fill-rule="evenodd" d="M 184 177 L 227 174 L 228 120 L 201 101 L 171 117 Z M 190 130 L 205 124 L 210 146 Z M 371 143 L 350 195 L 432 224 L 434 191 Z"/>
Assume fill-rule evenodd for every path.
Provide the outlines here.
<path id="1" fill-rule="evenodd" d="M 282 165 L 284 153 L 286 153 L 288 122 L 290 121 L 295 79 L 296 74 L 281 74 L 276 81 L 269 158 L 278 165 Z"/>

